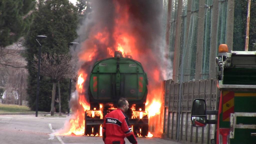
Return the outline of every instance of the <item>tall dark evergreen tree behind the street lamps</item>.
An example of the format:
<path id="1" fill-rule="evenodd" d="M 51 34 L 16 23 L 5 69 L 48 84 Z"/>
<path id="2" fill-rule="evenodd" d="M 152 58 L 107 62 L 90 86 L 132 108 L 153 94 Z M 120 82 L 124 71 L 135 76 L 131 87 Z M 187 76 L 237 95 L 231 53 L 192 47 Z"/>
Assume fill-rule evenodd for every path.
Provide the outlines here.
<path id="1" fill-rule="evenodd" d="M 26 37 L 26 59 L 28 61 L 28 104 L 35 110 L 37 70 L 32 66 L 34 54 L 38 56 L 39 44 L 36 41 L 37 35 L 45 35 L 46 39 L 41 40 L 42 53 L 68 54 L 68 43 L 76 37 L 78 24 L 78 10 L 68 0 L 40 0 L 38 11 L 34 12 L 35 18 Z M 69 80 L 60 81 L 61 108 L 65 112 L 68 108 Z M 49 78 L 40 76 L 40 94 L 38 110 L 50 111 L 52 81 Z M 57 92 L 56 92 L 57 93 Z M 57 107 L 56 107 L 57 111 Z"/>

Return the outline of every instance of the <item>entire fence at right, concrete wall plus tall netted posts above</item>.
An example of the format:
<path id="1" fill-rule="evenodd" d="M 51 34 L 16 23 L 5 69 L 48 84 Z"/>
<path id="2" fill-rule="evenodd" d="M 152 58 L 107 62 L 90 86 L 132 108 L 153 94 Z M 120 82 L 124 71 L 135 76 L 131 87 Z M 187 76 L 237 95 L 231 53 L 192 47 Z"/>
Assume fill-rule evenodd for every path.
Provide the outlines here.
<path id="1" fill-rule="evenodd" d="M 163 5 L 163 45 L 173 63 L 173 80 L 165 81 L 164 135 L 174 140 L 210 143 L 215 126 L 191 126 L 192 101 L 203 98 L 207 101 L 207 110 L 216 109 L 218 46 L 227 44 L 229 51 L 245 50 L 248 0 L 163 0 Z M 249 51 L 256 51 L 255 12 L 256 0 L 251 0 Z M 181 117 L 178 119 L 182 57 Z"/>

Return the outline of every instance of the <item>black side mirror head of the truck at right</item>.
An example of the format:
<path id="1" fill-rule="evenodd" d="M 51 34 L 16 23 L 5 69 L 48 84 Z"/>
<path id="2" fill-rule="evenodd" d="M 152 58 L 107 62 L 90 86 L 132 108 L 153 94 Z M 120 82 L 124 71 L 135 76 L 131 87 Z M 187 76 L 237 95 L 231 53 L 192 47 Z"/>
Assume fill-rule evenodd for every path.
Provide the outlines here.
<path id="1" fill-rule="evenodd" d="M 206 102 L 204 99 L 195 99 L 192 105 L 191 122 L 194 127 L 205 127 L 207 121 Z"/>

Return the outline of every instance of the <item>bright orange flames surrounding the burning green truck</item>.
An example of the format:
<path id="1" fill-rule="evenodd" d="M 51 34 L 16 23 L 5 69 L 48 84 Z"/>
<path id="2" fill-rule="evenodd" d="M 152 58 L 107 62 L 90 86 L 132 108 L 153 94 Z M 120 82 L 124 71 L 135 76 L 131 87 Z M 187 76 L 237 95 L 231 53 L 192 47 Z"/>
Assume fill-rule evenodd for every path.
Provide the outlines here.
<path id="1" fill-rule="evenodd" d="M 105 1 L 102 3 L 105 3 Z M 126 1 L 113 0 L 112 3 L 114 6 L 113 17 L 112 19 L 106 19 L 106 22 L 112 22 L 111 27 L 104 24 L 104 18 L 93 19 L 93 24 L 90 25 L 91 27 L 88 32 L 88 38 L 81 43 L 81 51 L 78 56 L 79 60 L 83 61 L 84 64 L 78 71 L 76 87 L 78 91 L 78 104 L 72 107 L 72 118 L 58 134 L 84 135 L 85 112 L 88 116 L 103 118 L 102 104 L 100 105 L 100 110 L 90 110 L 90 103 L 86 95 L 89 87 L 89 76 L 92 66 L 96 61 L 113 57 L 116 50 L 120 51 L 123 57 L 132 56 L 134 60 L 141 62 L 149 78 L 145 111 L 135 111 L 133 107 L 132 118 L 143 118 L 147 116 L 150 119 L 159 115 L 161 112 L 161 83 L 163 76 L 161 75 L 160 59 L 156 56 L 157 51 L 155 51 L 159 51 L 159 45 L 157 43 L 153 44 L 153 41 L 157 37 L 153 35 L 155 34 L 154 32 L 151 32 L 157 28 L 152 27 L 150 23 L 138 19 L 141 16 L 140 13 L 144 13 L 140 11 L 140 7 L 134 7 L 136 5 L 132 5 Z M 102 4 L 102 7 L 105 7 L 105 5 Z M 152 9 L 148 11 L 152 12 Z M 138 12 L 138 14 L 135 12 Z M 141 18 L 146 19 L 143 16 Z M 134 19 L 136 23 L 133 21 Z M 113 106 L 111 108 L 115 109 Z M 102 126 L 100 126 L 100 132 L 95 136 L 102 136 L 101 130 Z M 92 134 L 91 136 L 94 135 Z M 149 132 L 147 137 L 152 136 Z"/>

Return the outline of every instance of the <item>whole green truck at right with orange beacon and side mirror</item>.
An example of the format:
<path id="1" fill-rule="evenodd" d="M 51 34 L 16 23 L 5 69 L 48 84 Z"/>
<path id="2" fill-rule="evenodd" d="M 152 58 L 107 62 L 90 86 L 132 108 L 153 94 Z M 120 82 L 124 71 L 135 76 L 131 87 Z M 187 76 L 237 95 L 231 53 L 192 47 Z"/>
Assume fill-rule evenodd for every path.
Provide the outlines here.
<path id="1" fill-rule="evenodd" d="M 206 110 L 204 99 L 195 99 L 191 110 L 194 127 L 215 124 L 212 144 L 256 143 L 256 52 L 231 51 L 219 46 L 217 110 Z M 208 120 L 207 115 L 216 115 Z"/>

